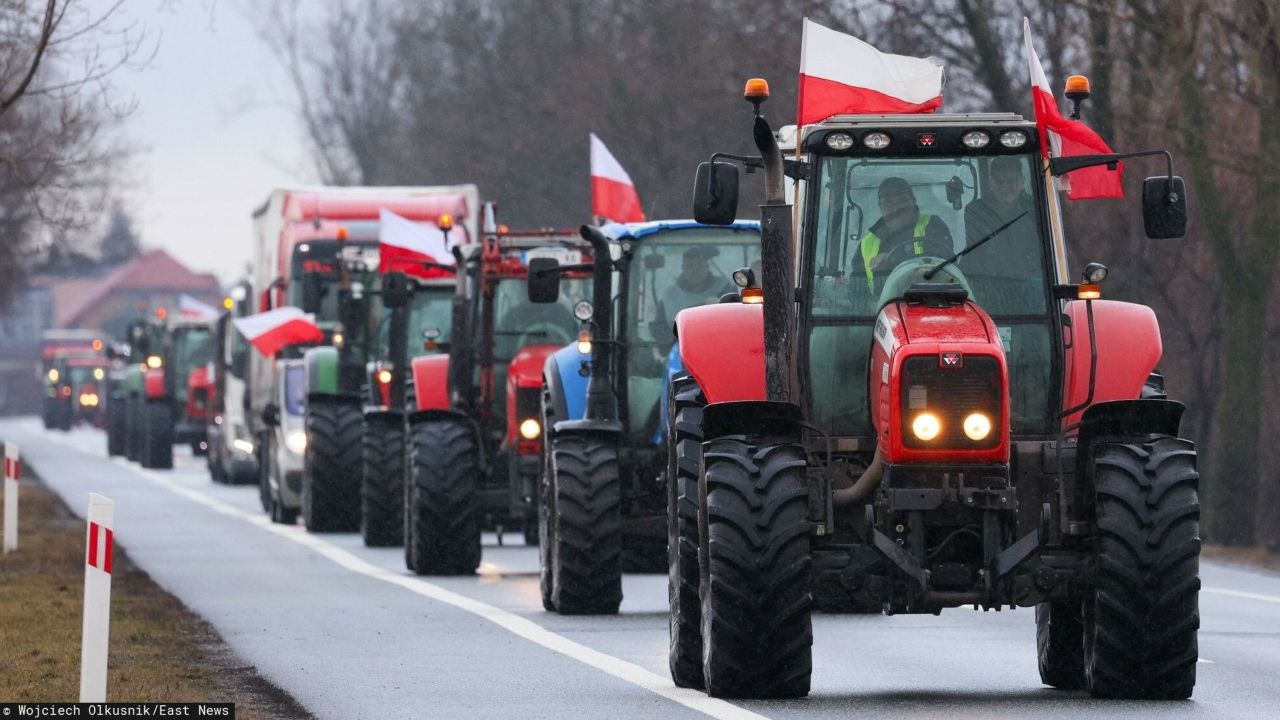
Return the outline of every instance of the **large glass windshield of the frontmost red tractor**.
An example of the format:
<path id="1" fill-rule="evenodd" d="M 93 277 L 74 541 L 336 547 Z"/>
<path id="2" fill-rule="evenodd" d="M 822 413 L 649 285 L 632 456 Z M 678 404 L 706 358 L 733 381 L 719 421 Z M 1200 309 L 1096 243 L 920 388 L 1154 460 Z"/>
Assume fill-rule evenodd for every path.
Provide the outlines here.
<path id="1" fill-rule="evenodd" d="M 901 295 L 891 273 L 950 258 L 1010 220 L 955 268 L 1000 328 L 1015 433 L 1050 427 L 1051 272 L 1032 179 L 1034 156 L 819 159 L 805 246 L 814 409 L 835 434 L 870 434 L 867 348 L 881 306 Z M 900 275 L 897 275 L 900 277 Z"/>

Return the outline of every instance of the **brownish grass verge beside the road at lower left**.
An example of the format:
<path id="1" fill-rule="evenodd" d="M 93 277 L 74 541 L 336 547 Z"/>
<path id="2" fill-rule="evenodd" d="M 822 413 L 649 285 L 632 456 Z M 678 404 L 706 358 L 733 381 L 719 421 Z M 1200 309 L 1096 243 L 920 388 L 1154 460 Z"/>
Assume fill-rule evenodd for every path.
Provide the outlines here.
<path id="1" fill-rule="evenodd" d="M 0 556 L 0 701 L 79 697 L 84 521 L 23 466 L 18 550 Z M 106 700 L 234 702 L 237 717 L 311 715 L 214 629 L 129 561 L 113 553 Z"/>

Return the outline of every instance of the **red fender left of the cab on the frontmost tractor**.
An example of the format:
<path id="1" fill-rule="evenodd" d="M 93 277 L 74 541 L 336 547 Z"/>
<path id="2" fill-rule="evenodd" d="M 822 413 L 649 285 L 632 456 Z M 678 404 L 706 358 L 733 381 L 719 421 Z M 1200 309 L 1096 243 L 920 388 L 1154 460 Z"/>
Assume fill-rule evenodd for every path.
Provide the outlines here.
<path id="1" fill-rule="evenodd" d="M 707 404 L 764 400 L 764 309 L 721 302 L 676 315 L 680 360 Z"/>

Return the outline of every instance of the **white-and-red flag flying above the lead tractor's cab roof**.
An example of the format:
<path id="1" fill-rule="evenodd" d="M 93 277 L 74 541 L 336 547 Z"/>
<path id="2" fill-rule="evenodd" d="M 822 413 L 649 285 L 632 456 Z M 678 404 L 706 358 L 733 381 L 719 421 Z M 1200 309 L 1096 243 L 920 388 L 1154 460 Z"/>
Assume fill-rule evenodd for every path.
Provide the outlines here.
<path id="1" fill-rule="evenodd" d="M 881 53 L 805 18 L 796 123 L 832 115 L 932 113 L 942 106 L 942 64 Z"/>

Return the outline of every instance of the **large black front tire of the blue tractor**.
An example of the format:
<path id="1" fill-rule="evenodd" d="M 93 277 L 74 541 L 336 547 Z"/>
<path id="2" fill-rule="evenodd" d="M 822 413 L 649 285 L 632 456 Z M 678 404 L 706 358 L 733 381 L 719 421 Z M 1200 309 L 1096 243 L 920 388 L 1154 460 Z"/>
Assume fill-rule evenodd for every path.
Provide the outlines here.
<path id="1" fill-rule="evenodd" d="M 552 441 L 552 602 L 561 615 L 613 615 L 622 605 L 618 448 L 602 437 Z"/>

